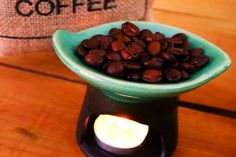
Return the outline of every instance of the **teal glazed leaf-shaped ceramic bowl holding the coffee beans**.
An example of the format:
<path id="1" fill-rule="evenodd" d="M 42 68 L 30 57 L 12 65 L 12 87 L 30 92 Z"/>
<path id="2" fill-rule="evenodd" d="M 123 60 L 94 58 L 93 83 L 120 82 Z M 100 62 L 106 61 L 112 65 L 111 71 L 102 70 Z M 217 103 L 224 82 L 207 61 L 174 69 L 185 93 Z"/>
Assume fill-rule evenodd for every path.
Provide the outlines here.
<path id="1" fill-rule="evenodd" d="M 81 41 L 96 34 L 108 34 L 111 28 L 120 28 L 124 21 L 107 23 L 78 33 L 58 30 L 53 35 L 53 46 L 61 61 L 69 69 L 86 80 L 88 84 L 96 87 L 105 95 L 115 100 L 129 103 L 178 96 L 181 93 L 193 90 L 214 79 L 224 72 L 231 64 L 229 56 L 224 51 L 190 32 L 160 23 L 142 21 L 131 22 L 136 24 L 140 29 L 147 28 L 153 32 L 158 31 L 169 37 L 180 32 L 186 33 L 190 42 L 190 47 L 203 48 L 205 54 L 210 57 L 210 63 L 203 69 L 195 72 L 188 80 L 178 83 L 148 84 L 110 77 L 88 67 L 82 60 L 75 56 L 74 52 Z"/>

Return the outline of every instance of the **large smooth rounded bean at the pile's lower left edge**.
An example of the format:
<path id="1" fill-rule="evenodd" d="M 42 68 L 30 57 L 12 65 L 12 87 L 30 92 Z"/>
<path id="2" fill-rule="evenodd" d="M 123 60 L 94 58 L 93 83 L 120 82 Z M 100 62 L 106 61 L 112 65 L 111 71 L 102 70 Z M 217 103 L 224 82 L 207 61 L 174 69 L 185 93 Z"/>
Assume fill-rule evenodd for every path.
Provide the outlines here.
<path id="1" fill-rule="evenodd" d="M 88 53 L 84 61 L 87 65 L 93 67 L 93 68 L 99 68 L 101 64 L 104 61 L 104 58 L 101 55 L 98 55 L 96 53 Z"/>

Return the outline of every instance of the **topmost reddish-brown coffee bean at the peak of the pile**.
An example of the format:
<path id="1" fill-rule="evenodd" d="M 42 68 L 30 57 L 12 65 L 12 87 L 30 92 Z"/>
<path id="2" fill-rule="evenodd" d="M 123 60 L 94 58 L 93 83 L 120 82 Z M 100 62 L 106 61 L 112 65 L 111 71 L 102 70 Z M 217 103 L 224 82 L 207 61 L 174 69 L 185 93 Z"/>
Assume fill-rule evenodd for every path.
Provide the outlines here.
<path id="1" fill-rule="evenodd" d="M 122 31 L 131 37 L 138 36 L 140 34 L 139 28 L 130 22 L 122 24 Z"/>

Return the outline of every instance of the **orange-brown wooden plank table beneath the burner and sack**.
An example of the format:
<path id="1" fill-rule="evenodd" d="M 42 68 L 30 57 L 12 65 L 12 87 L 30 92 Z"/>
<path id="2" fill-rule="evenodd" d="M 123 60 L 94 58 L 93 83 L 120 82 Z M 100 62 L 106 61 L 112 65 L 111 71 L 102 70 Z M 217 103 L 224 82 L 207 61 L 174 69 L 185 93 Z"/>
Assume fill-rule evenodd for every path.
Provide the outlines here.
<path id="1" fill-rule="evenodd" d="M 235 0 L 158 0 L 155 21 L 196 33 L 236 61 Z M 235 64 L 183 94 L 174 157 L 236 156 Z M 54 53 L 0 58 L 0 156 L 84 157 L 75 140 L 86 84 Z"/>

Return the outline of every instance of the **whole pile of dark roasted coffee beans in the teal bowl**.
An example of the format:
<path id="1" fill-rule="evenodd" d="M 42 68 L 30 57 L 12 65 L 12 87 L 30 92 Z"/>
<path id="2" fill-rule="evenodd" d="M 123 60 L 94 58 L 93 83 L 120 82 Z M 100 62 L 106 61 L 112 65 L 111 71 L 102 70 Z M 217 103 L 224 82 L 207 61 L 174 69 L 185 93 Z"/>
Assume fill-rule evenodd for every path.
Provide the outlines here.
<path id="1" fill-rule="evenodd" d="M 78 46 L 84 63 L 113 77 L 138 82 L 178 82 L 209 62 L 201 48 L 189 48 L 184 33 L 166 37 L 130 22 L 95 35 Z"/>

